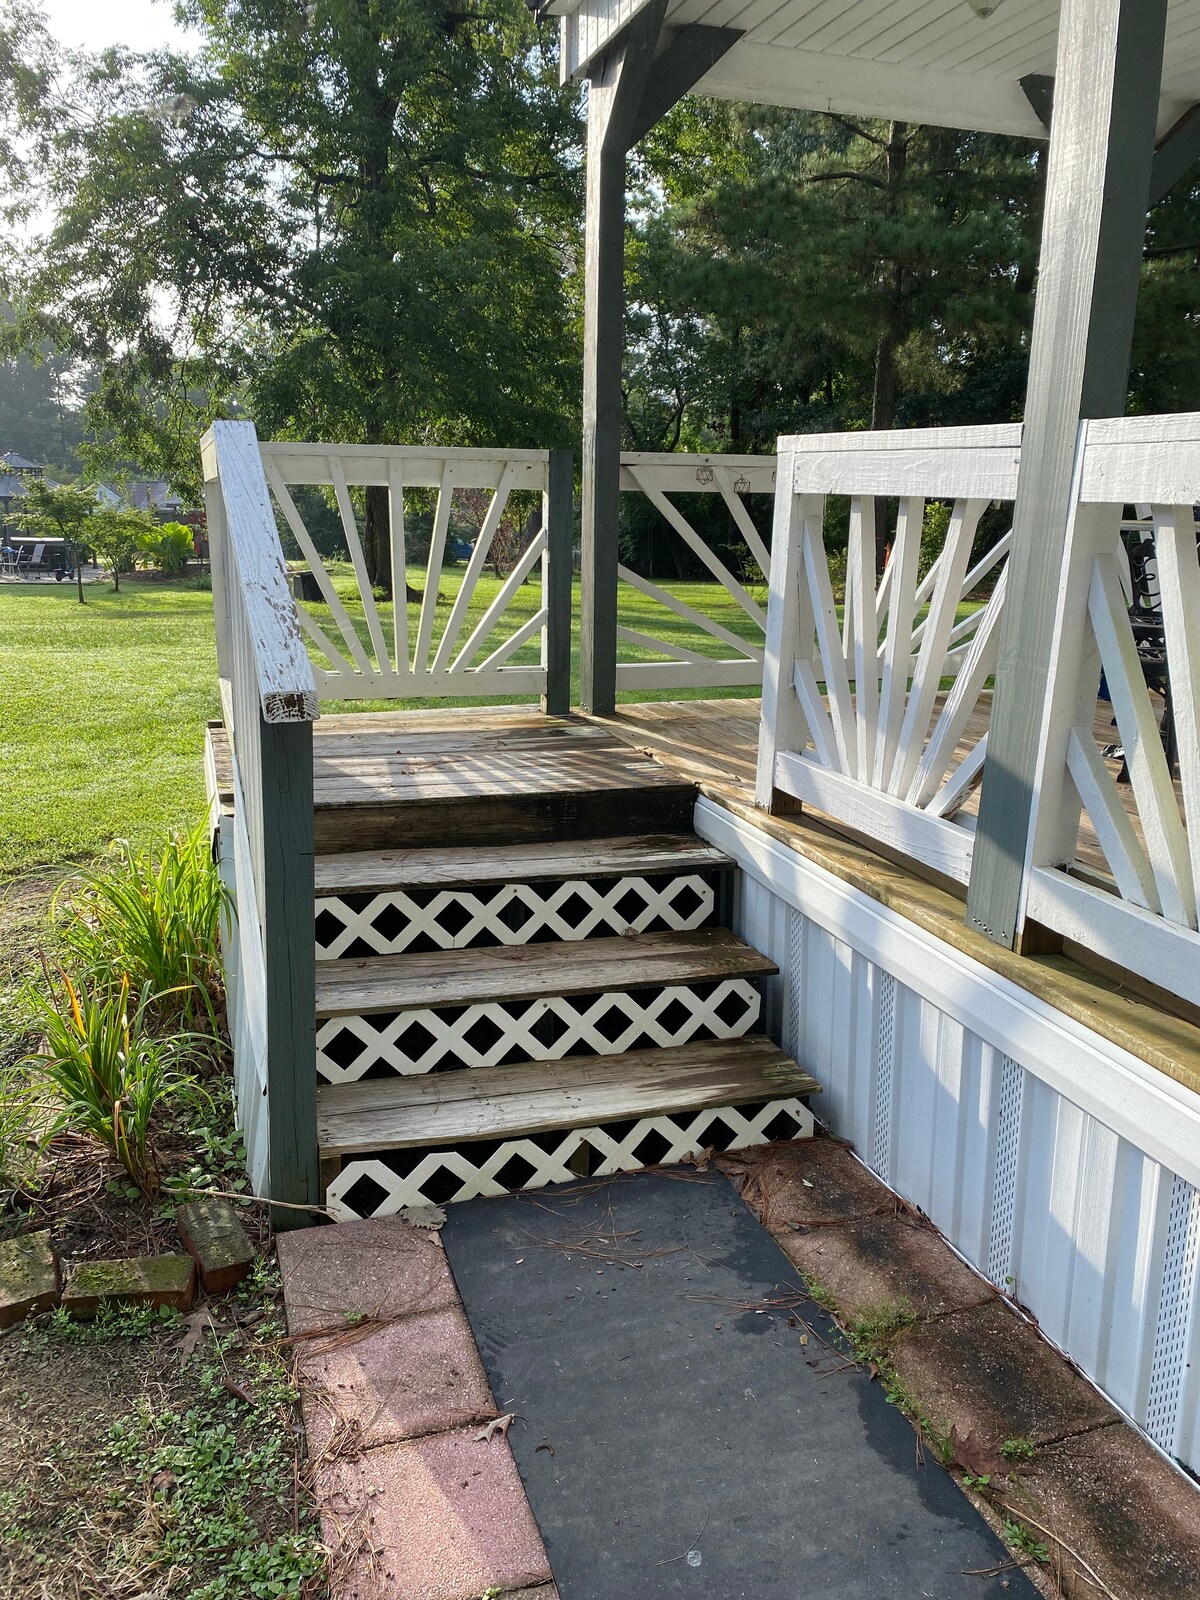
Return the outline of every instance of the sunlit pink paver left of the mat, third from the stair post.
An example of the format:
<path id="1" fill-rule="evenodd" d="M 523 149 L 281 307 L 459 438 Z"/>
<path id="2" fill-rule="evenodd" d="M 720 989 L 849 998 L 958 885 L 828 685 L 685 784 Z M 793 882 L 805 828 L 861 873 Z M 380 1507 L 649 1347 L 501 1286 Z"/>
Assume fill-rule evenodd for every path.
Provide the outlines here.
<path id="1" fill-rule="evenodd" d="M 550 1581 L 507 1440 L 477 1429 L 317 1470 L 338 1600 L 478 1600 Z"/>

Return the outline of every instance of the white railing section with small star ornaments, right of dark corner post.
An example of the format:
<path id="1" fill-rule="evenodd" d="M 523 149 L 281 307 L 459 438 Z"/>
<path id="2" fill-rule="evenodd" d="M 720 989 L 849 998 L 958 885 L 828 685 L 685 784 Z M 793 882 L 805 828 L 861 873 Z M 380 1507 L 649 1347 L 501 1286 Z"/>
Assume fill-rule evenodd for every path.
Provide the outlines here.
<path id="1" fill-rule="evenodd" d="M 619 566 L 618 578 L 627 587 L 624 592 L 618 592 L 618 650 L 626 645 L 666 659 L 621 661 L 618 656 L 618 690 L 718 688 L 762 683 L 766 608 L 752 590 L 760 586 L 766 587 L 771 563 L 766 544 L 744 504 L 744 496 L 752 493 L 773 494 L 774 474 L 774 456 L 634 453 L 621 456 L 622 493 L 645 494 L 662 517 L 664 525 L 680 539 L 690 558 L 699 562 L 709 576 L 715 578 L 734 606 L 725 606 L 718 614 L 710 614 L 710 611 L 674 594 L 669 586 L 642 578 L 629 566 Z M 731 570 L 728 562 L 696 531 L 683 510 L 670 499 L 672 494 L 712 494 L 725 502 L 734 534 L 734 549 L 739 549 L 742 557 L 736 563 L 738 571 Z M 654 606 L 670 613 L 672 621 L 662 616 L 658 624 L 659 630 L 654 630 L 654 622 L 645 622 L 645 606 L 640 602 L 637 616 L 634 616 L 629 590 L 635 590 L 642 602 L 650 600 Z M 712 648 L 718 653 L 707 654 L 674 640 L 670 630 L 678 629 L 675 618 L 682 619 L 690 632 L 707 635 L 714 642 Z M 731 621 L 738 621 L 746 634 L 731 627 Z M 638 626 L 630 626 L 632 622 Z"/>

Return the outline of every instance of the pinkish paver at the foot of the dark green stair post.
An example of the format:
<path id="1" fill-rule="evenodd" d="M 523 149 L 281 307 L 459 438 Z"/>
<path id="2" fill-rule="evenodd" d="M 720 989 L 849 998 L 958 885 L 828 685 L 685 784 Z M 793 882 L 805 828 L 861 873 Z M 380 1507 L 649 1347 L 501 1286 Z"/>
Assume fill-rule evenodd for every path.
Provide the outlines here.
<path id="1" fill-rule="evenodd" d="M 397 1218 L 282 1234 L 278 1262 L 291 1333 L 458 1306 L 442 1240 Z"/>

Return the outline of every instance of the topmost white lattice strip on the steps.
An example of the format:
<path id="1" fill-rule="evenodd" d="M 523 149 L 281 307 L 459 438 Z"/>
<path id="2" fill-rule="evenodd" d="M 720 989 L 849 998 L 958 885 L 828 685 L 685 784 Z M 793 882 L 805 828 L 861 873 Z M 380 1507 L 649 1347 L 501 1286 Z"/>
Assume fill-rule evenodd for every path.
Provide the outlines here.
<path id="1" fill-rule="evenodd" d="M 702 928 L 712 885 L 696 874 L 624 877 L 600 883 L 502 883 L 493 890 L 323 896 L 317 901 L 317 960 L 464 950 L 533 939 L 589 939 L 595 933 Z"/>

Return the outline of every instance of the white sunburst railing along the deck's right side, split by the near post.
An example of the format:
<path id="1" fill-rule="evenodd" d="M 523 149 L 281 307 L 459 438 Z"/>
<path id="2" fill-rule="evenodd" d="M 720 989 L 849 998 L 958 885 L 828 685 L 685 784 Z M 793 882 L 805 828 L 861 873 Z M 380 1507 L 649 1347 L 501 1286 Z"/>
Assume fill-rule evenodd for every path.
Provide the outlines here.
<path id="1" fill-rule="evenodd" d="M 1008 536 L 978 554 L 989 502 L 1011 501 L 1021 429 L 939 429 L 782 438 L 776 498 L 757 800 L 778 794 L 970 883 L 976 826 L 957 816 L 987 784 L 989 678 L 1000 656 Z M 842 618 L 822 522 L 850 496 Z M 894 544 L 875 582 L 875 496 L 896 498 Z M 949 533 L 918 581 L 925 502 L 954 499 Z M 1200 1005 L 1200 413 L 1080 424 L 1030 773 L 1022 922 Z M 1126 507 L 1138 522 L 1123 522 Z M 1165 698 L 1147 683 L 1130 618 L 1122 528 L 1154 539 L 1178 770 Z M 998 568 L 998 574 L 997 574 Z M 984 579 L 990 598 L 963 619 Z M 1146 611 L 1139 613 L 1144 621 Z M 1162 651 L 1158 669 L 1163 669 Z M 1106 686 L 1109 702 L 1099 701 Z M 1110 717 L 1115 726 L 1109 726 Z M 1123 755 L 1106 755 L 1106 746 Z M 957 816 L 957 821 L 955 821 Z"/>

